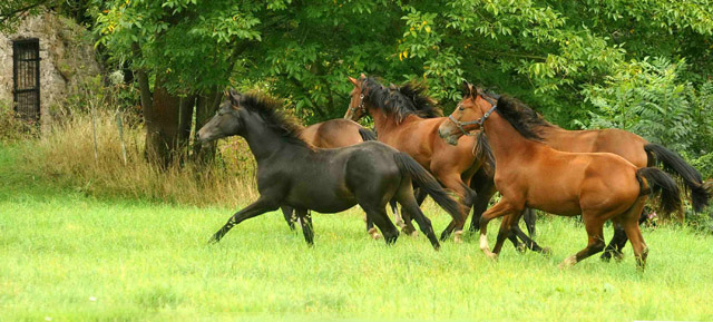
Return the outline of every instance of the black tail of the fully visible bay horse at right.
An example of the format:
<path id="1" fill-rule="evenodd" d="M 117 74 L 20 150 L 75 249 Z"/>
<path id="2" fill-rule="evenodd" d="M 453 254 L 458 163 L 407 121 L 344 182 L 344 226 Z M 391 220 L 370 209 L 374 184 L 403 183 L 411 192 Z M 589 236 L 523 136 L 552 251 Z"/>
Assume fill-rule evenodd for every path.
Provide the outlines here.
<path id="1" fill-rule="evenodd" d="M 642 195 L 647 193 L 658 196 L 660 207 L 664 215 L 678 213 L 683 202 L 681 201 L 681 191 L 678 185 L 666 173 L 658 168 L 646 167 L 636 170 L 636 179 L 642 186 Z M 646 183 L 644 183 L 644 180 Z M 648 187 L 646 187 L 648 186 Z"/>

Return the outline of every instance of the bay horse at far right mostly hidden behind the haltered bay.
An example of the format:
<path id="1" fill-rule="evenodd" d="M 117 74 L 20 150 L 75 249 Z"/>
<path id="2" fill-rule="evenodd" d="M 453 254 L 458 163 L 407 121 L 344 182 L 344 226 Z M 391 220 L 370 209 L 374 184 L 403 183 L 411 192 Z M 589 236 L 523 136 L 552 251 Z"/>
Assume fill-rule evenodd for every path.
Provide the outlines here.
<path id="1" fill-rule="evenodd" d="M 472 86 L 466 89 L 471 91 Z M 494 105 L 498 99 L 497 95 L 489 94 L 476 88 L 476 100 L 479 105 Z M 524 116 L 522 121 L 527 123 L 537 131 L 543 142 L 550 147 L 572 153 L 613 153 L 622 156 L 638 168 L 662 165 L 670 175 L 674 175 L 684 188 L 690 192 L 693 209 L 701 212 L 710 202 L 710 194 L 703 187 L 701 174 L 688 165 L 676 153 L 668 150 L 664 146 L 648 143 L 643 137 L 623 129 L 592 129 L 592 130 L 567 130 L 548 123 L 539 114 L 525 104 L 515 105 Z M 448 136 L 448 140 L 455 142 L 463 135 L 457 130 Z M 646 221 L 646 212 L 642 212 L 639 223 Z M 471 226 L 477 221 L 471 222 Z M 626 245 L 626 233 L 622 227 L 615 225 L 614 236 L 602 254 L 603 260 L 611 257 L 621 258 L 622 250 Z"/>

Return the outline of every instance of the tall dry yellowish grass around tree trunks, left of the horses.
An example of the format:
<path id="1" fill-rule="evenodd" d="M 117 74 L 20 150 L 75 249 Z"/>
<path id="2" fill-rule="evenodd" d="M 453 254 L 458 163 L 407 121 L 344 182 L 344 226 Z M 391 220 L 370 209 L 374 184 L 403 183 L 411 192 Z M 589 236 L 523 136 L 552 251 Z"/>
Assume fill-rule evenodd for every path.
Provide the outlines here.
<path id="1" fill-rule="evenodd" d="M 88 194 L 188 205 L 245 204 L 257 196 L 255 162 L 244 140 L 218 143 L 216 162 L 198 167 L 176 162 L 162 170 L 144 157 L 145 131 L 123 119 L 119 137 L 116 114 L 96 113 L 97 156 L 90 113 L 75 114 L 49 133 L 23 144 L 21 170 L 46 176 Z M 126 163 L 121 149 L 126 146 Z"/>

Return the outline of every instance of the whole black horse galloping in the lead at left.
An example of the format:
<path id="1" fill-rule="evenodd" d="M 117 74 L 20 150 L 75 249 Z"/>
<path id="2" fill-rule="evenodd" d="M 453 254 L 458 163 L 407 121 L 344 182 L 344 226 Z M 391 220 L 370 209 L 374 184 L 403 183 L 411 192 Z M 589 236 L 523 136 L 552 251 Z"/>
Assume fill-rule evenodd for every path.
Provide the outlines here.
<path id="1" fill-rule="evenodd" d="M 260 197 L 235 213 L 211 243 L 221 241 L 243 221 L 286 205 L 295 209 L 304 238 L 312 245 L 309 211 L 338 213 L 359 204 L 385 243 L 392 244 L 399 232 L 387 215 L 385 204 L 395 199 L 413 216 L 433 248 L 440 247 L 430 219 L 413 197 L 412 183 L 449 213 L 458 214 L 458 203 L 413 158 L 379 142 L 320 149 L 304 142 L 301 131 L 279 101 L 231 89 L 217 114 L 198 130 L 198 140 L 233 135 L 245 138 L 257 163 Z"/>

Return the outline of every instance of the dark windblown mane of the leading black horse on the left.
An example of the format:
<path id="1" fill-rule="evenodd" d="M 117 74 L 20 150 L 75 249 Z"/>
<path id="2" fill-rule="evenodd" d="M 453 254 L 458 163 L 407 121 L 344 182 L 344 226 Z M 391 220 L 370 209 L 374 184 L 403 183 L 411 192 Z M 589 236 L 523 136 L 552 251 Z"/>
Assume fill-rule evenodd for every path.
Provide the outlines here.
<path id="1" fill-rule="evenodd" d="M 241 96 L 240 107 L 257 114 L 265 126 L 290 143 L 302 145 L 314 149 L 314 147 L 302 139 L 304 127 L 300 125 L 293 116 L 286 113 L 283 104 L 265 95 L 250 92 Z"/>

